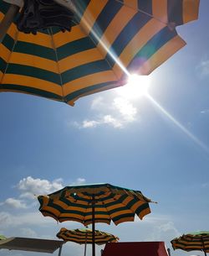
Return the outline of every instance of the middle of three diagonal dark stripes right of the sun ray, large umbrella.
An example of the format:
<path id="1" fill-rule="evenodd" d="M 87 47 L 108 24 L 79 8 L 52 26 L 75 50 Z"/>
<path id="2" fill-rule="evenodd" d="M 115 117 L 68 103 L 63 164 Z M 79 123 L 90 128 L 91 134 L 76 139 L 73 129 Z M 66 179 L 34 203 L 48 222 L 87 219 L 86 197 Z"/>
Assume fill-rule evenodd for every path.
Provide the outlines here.
<path id="1" fill-rule="evenodd" d="M 115 54 L 116 57 L 120 56 L 125 46 L 129 44 L 130 40 L 137 34 L 141 28 L 150 20 L 150 17 L 143 13 L 136 13 L 130 20 L 129 24 L 121 31 L 120 35 L 115 39 L 115 42 L 110 47 L 110 52 Z M 110 63 L 110 66 L 115 65 L 115 60 L 108 53 L 106 60 Z"/>

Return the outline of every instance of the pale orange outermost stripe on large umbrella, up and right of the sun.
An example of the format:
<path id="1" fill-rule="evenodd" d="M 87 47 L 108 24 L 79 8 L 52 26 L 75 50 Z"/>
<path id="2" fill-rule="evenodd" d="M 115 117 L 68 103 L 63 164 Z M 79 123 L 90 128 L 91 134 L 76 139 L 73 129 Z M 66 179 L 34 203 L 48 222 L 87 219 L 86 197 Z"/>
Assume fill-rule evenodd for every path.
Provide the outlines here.
<path id="1" fill-rule="evenodd" d="M 181 39 L 180 36 L 176 35 L 175 38 L 171 39 L 167 44 L 164 44 L 161 49 L 157 50 L 144 65 L 140 66 L 139 73 L 141 75 L 150 74 L 151 71 L 154 71 L 156 67 L 168 60 L 171 55 L 174 55 L 176 51 L 180 50 L 185 45 L 186 42 Z"/>

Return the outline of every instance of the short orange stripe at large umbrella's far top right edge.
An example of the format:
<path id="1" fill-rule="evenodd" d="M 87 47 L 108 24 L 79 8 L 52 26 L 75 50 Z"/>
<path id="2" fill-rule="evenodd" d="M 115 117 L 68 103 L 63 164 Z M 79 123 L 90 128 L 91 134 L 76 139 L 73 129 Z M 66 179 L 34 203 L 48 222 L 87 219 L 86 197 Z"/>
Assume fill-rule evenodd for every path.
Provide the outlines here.
<path id="1" fill-rule="evenodd" d="M 186 24 L 198 18 L 200 0 L 184 0 L 183 2 L 183 22 Z"/>

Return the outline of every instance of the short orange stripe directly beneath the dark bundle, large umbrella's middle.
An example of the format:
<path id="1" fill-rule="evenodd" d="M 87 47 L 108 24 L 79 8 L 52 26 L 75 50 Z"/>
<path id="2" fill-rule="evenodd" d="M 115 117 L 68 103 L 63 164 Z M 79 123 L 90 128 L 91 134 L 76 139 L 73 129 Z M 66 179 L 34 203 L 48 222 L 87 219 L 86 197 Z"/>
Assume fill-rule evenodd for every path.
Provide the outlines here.
<path id="1" fill-rule="evenodd" d="M 57 34 L 54 34 L 54 44 L 56 47 L 60 47 L 64 44 L 68 44 L 70 42 L 73 42 L 75 40 L 82 39 L 86 37 L 86 34 L 84 34 L 84 31 L 82 30 L 80 25 L 74 26 L 70 32 L 65 31 L 59 32 Z"/>

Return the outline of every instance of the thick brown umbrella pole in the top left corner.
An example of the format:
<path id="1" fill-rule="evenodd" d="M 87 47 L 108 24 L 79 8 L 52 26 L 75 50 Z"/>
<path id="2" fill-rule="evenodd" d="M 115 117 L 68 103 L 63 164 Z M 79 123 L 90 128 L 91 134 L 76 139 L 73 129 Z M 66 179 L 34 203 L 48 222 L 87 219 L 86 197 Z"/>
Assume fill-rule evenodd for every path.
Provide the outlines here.
<path id="1" fill-rule="evenodd" d="M 0 44 L 2 43 L 4 36 L 7 34 L 8 28 L 13 23 L 13 19 L 18 14 L 19 7 L 15 4 L 10 4 L 8 12 L 4 15 L 0 24 Z"/>

